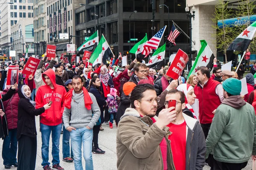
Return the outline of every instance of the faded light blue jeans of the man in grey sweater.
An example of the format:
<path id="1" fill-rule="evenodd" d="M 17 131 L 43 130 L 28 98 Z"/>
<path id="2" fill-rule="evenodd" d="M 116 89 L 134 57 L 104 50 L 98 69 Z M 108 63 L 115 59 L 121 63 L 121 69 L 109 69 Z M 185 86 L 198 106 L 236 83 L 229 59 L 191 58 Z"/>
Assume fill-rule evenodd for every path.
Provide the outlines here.
<path id="1" fill-rule="evenodd" d="M 93 170 L 92 142 L 93 130 L 84 128 L 76 128 L 70 132 L 71 146 L 74 153 L 75 170 L 83 170 L 82 166 L 82 144 L 83 155 L 85 160 L 85 170 Z"/>

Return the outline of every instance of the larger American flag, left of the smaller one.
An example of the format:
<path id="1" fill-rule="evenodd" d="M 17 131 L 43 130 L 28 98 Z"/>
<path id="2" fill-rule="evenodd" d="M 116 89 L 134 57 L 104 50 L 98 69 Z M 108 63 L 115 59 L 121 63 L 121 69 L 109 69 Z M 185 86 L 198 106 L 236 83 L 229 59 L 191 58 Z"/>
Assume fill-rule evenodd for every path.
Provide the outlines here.
<path id="1" fill-rule="evenodd" d="M 143 51 L 142 54 L 145 55 L 145 57 L 148 56 L 148 54 L 150 53 L 150 51 L 152 49 L 157 49 L 160 41 L 163 37 L 163 33 L 166 29 L 166 26 L 164 26 L 162 29 L 160 29 L 160 31 L 157 32 L 157 34 L 154 35 L 154 37 L 152 37 L 144 46 L 143 46 Z"/>

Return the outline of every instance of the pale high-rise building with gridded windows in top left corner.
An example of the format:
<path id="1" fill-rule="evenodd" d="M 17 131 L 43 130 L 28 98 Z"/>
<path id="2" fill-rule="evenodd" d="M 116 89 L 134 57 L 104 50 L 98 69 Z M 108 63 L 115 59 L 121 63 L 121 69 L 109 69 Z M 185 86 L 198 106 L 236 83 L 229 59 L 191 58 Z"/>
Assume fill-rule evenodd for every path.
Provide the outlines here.
<path id="1" fill-rule="evenodd" d="M 11 50 L 11 27 L 19 22 L 19 19 L 26 21 L 33 18 L 34 0 L 1 0 L 0 5 L 0 46 L 1 51 L 9 56 Z M 9 4 L 13 3 L 13 4 Z"/>

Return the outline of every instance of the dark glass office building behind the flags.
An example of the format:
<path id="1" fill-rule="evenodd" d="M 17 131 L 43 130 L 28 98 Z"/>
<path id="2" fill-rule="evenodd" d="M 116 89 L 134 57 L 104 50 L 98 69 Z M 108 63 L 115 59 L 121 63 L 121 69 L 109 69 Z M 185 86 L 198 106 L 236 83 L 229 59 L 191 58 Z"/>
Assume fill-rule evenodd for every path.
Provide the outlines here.
<path id="1" fill-rule="evenodd" d="M 148 35 L 148 40 L 165 25 L 168 26 L 168 9 L 159 5 L 169 6 L 169 25 L 172 20 L 189 35 L 189 20 L 186 19 L 186 0 L 86 0 L 76 9 L 76 35 L 90 36 L 99 30 L 99 38 L 103 34 L 117 57 L 119 52 L 128 54 L 130 51 L 129 33 L 131 31 L 131 47 Z M 133 13 L 137 11 L 137 13 Z M 133 14 L 132 14 L 133 13 Z M 152 22 L 154 15 L 154 23 Z M 131 19 L 131 30 L 129 30 Z M 154 30 L 152 30 L 154 25 Z M 171 29 L 171 28 L 170 28 Z M 90 31 L 89 31 L 90 30 Z M 169 35 L 166 28 L 164 36 Z M 88 31 L 90 34 L 88 34 Z M 164 38 L 163 38 L 164 39 Z M 84 37 L 76 38 L 79 47 L 84 42 Z M 160 45 L 164 44 L 164 40 Z M 176 46 L 170 48 L 170 54 L 176 53 L 181 48 L 189 51 L 189 40 L 180 34 L 176 39 Z M 134 58 L 135 55 L 132 55 Z M 169 61 L 169 45 L 166 45 L 166 60 Z M 129 55 L 128 55 L 129 58 Z"/>

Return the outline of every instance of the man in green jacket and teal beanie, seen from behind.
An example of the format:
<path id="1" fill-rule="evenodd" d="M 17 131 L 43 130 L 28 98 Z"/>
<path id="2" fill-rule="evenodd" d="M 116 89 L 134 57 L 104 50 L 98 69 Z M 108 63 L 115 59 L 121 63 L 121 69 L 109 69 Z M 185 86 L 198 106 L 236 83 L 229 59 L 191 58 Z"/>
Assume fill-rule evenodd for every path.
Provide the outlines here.
<path id="1" fill-rule="evenodd" d="M 241 170 L 251 155 L 256 155 L 255 111 L 240 96 L 240 80 L 229 78 L 222 86 L 225 99 L 212 119 L 206 139 L 206 159 L 212 151 L 219 169 Z"/>

